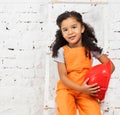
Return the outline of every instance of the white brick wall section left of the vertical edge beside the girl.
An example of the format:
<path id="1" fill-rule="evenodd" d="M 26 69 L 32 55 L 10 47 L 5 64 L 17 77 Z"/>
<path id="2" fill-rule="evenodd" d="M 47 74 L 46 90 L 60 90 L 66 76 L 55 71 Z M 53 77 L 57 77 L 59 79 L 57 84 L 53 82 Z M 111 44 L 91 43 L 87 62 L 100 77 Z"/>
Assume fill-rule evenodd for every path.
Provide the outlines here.
<path id="1" fill-rule="evenodd" d="M 0 115 L 42 113 L 48 12 L 38 2 L 0 1 Z"/>

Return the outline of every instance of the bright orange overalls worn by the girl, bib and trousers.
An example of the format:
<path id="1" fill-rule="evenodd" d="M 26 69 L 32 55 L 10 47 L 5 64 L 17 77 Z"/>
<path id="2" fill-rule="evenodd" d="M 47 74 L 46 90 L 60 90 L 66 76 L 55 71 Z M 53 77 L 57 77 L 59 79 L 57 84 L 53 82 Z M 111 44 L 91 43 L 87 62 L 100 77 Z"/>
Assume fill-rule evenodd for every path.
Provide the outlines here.
<path id="1" fill-rule="evenodd" d="M 81 85 L 85 80 L 87 71 L 91 68 L 92 60 L 85 56 L 84 47 L 63 47 L 67 68 L 67 77 Z M 56 91 L 57 115 L 101 115 L 98 101 L 85 93 L 70 89 L 60 80 Z"/>

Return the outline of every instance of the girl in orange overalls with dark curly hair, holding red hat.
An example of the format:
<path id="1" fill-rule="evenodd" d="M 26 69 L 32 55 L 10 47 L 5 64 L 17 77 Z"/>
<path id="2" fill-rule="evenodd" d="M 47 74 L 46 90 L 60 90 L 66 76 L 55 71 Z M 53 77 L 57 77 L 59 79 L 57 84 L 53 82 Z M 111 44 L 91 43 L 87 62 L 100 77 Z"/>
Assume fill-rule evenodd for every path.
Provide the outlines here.
<path id="1" fill-rule="evenodd" d="M 58 16 L 56 39 L 52 57 L 57 62 L 60 80 L 57 84 L 57 115 L 101 115 L 95 98 L 100 91 L 97 83 L 87 85 L 85 75 L 92 67 L 92 58 L 106 63 L 109 58 L 97 46 L 94 29 L 83 22 L 76 11 L 66 11 Z M 114 71 L 111 61 L 111 71 Z"/>

